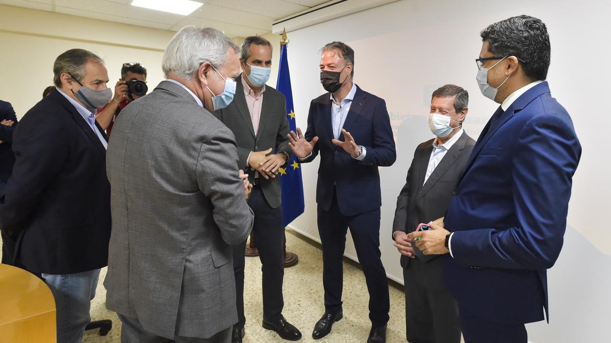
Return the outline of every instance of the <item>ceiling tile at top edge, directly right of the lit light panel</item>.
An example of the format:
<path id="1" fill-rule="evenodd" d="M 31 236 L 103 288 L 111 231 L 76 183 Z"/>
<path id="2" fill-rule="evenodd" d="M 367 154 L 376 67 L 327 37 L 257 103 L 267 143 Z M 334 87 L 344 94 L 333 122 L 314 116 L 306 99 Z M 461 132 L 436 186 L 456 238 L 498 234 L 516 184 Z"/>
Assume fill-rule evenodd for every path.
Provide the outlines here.
<path id="1" fill-rule="evenodd" d="M 265 0 L 261 2 L 253 2 L 251 0 L 211 0 L 208 3 L 229 9 L 271 16 L 274 19 L 284 18 L 287 15 L 308 9 L 308 7 L 282 0 Z"/>

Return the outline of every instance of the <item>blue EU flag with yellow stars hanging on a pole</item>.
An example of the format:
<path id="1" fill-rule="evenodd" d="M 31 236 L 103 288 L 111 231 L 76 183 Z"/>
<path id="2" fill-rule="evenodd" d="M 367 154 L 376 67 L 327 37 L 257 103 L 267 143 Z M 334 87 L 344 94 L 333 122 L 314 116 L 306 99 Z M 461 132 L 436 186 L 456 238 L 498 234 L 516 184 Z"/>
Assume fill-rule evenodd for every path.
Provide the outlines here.
<path id="1" fill-rule="evenodd" d="M 280 49 L 280 70 L 276 89 L 287 99 L 287 118 L 290 130 L 297 132 L 295 112 L 293 111 L 293 91 L 291 90 L 291 76 L 288 73 L 287 45 L 282 44 Z M 304 212 L 304 185 L 301 179 L 301 164 L 293 155 L 286 168 L 280 168 L 280 187 L 282 189 L 282 217 L 284 226 L 293 222 Z"/>

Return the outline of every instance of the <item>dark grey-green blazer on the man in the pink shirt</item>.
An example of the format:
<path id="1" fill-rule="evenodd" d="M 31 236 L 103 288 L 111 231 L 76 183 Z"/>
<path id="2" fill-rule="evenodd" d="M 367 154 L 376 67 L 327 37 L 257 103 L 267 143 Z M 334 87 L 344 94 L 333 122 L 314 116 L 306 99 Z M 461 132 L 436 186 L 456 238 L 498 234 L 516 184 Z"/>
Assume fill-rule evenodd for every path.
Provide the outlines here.
<path id="1" fill-rule="evenodd" d="M 242 74 L 235 78 L 235 81 L 237 85 L 232 103 L 224 109 L 214 111 L 214 115 L 225 123 L 235 135 L 240 159 L 238 165 L 244 169 L 244 173 L 248 174 L 252 182 L 255 171 L 251 168 L 246 170 L 246 160 L 251 151 L 265 151 L 272 148 L 272 153 L 284 151 L 288 154 L 289 159 L 293 154 L 288 147 L 287 102 L 282 93 L 268 85 L 265 86 L 258 132 L 255 135 L 251 114 L 246 105 L 246 96 L 244 96 Z M 279 175 L 269 179 L 260 176 L 258 182 L 269 206 L 272 208 L 280 206 L 282 194 L 280 193 Z"/>

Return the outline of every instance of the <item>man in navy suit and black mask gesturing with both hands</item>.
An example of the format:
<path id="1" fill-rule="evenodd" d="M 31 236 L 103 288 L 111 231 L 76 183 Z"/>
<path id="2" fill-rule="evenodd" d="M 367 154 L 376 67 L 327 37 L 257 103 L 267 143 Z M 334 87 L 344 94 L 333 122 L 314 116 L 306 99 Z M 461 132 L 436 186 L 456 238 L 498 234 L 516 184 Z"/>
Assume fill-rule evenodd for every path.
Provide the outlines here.
<path id="1" fill-rule="evenodd" d="M 316 203 L 323 244 L 323 317 L 312 337 L 320 339 L 342 319 L 343 253 L 350 228 L 369 291 L 368 342 L 386 341 L 389 293 L 380 259 L 381 192 L 378 167 L 395 162 L 395 142 L 386 103 L 353 83 L 354 51 L 342 42 L 324 46 L 320 81 L 328 93 L 310 103 L 305 137 L 289 134 L 301 162 L 320 154 Z"/>

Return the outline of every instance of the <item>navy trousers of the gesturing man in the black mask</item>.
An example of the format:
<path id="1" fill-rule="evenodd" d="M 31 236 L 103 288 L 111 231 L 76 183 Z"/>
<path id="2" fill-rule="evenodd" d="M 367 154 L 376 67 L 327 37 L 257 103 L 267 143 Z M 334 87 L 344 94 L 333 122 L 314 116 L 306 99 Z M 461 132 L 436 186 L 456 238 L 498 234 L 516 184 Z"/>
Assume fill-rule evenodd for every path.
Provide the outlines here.
<path id="1" fill-rule="evenodd" d="M 380 209 L 346 216 L 340 212 L 335 194 L 329 211 L 318 205 L 318 234 L 323 245 L 324 308 L 331 312 L 342 308 L 343 253 L 348 228 L 365 274 L 369 319 L 373 325 L 381 327 L 388 322 L 390 301 L 386 270 L 379 250 Z"/>

